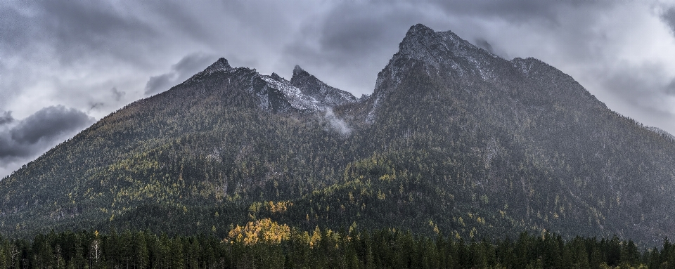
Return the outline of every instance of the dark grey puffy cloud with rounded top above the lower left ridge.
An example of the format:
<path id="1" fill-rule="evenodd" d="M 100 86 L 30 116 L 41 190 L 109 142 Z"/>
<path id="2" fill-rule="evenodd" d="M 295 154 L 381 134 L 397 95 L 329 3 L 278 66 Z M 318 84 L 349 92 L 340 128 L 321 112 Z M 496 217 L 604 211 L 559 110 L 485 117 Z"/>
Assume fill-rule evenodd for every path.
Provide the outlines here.
<path id="1" fill-rule="evenodd" d="M 45 107 L 28 116 L 9 131 L 12 140 L 33 144 L 39 140 L 51 140 L 65 133 L 94 123 L 94 118 L 74 108 L 62 105 Z"/>

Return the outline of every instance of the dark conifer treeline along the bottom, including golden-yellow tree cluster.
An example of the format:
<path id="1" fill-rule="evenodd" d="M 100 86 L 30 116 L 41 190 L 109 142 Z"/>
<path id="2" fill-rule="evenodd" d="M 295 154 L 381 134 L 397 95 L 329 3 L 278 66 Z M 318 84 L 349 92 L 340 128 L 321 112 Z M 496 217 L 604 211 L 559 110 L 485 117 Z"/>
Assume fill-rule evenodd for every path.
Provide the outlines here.
<path id="1" fill-rule="evenodd" d="M 522 233 L 515 240 L 465 242 L 394 229 L 306 232 L 264 219 L 229 237 L 125 230 L 49 232 L 0 238 L 0 268 L 674 268 L 675 244 L 641 251 L 617 237 L 598 240 Z"/>

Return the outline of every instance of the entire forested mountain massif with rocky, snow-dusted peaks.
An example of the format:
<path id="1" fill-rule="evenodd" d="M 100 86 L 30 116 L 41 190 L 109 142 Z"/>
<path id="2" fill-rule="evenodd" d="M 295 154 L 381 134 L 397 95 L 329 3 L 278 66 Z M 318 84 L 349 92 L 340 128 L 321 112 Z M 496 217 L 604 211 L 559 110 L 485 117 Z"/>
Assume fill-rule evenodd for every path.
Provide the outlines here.
<path id="1" fill-rule="evenodd" d="M 675 235 L 675 143 L 534 58 L 413 25 L 356 99 L 223 58 L 0 182 L 0 232 L 214 232 L 271 218 L 466 239 Z"/>

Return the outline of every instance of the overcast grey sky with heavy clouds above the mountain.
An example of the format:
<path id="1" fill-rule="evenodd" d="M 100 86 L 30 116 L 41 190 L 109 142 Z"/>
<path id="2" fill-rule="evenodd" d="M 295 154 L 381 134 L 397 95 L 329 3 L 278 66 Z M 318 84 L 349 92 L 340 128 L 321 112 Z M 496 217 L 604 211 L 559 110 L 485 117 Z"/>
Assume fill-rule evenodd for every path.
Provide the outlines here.
<path id="1" fill-rule="evenodd" d="M 674 1 L 5 0 L 0 177 L 220 57 L 372 93 L 417 23 L 543 60 L 611 110 L 675 133 Z"/>

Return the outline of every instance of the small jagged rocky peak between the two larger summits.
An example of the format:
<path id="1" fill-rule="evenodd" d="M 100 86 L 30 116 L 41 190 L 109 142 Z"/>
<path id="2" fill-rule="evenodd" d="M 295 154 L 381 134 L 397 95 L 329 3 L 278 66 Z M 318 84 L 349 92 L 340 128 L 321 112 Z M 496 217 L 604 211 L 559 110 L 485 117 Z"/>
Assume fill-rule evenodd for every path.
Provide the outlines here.
<path id="1" fill-rule="evenodd" d="M 352 93 L 326 85 L 323 81 L 302 70 L 298 65 L 295 65 L 293 69 L 293 77 L 290 79 L 290 83 L 299 88 L 305 95 L 311 96 L 326 106 L 332 107 L 356 102 L 356 97 Z"/>

